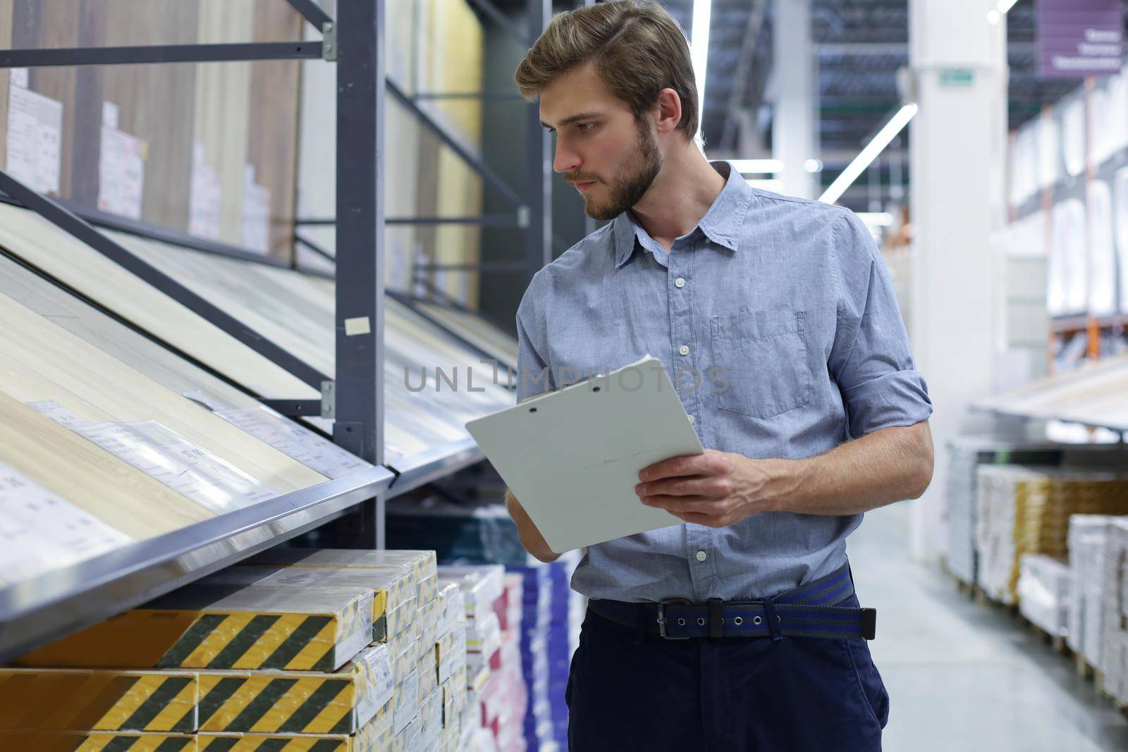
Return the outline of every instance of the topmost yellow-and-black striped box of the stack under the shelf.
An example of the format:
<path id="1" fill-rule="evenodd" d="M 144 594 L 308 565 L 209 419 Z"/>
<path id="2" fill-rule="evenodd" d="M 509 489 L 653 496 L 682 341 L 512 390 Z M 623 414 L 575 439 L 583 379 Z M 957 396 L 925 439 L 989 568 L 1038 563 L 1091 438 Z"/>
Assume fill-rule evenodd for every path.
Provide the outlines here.
<path id="1" fill-rule="evenodd" d="M 16 664 L 334 671 L 371 642 L 371 614 L 370 589 L 188 585 Z"/>

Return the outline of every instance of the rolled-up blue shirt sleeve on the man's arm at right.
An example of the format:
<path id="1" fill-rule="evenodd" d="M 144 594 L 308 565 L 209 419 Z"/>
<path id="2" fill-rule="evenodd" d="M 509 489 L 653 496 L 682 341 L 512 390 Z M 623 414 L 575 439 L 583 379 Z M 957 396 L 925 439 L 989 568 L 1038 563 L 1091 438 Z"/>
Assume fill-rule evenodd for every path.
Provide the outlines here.
<path id="1" fill-rule="evenodd" d="M 831 242 L 838 309 L 828 368 L 841 391 L 851 437 L 926 421 L 928 388 L 869 229 L 846 212 Z"/>

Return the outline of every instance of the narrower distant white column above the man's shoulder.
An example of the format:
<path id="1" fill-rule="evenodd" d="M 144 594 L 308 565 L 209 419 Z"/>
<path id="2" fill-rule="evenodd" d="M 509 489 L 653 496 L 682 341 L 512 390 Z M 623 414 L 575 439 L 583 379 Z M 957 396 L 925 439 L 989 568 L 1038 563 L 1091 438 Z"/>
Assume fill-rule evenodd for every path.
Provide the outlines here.
<path id="1" fill-rule="evenodd" d="M 819 156 L 814 45 L 811 43 L 811 0 L 775 0 L 775 116 L 772 156 L 783 162 L 783 193 L 817 198 L 814 176 L 804 162 Z"/>

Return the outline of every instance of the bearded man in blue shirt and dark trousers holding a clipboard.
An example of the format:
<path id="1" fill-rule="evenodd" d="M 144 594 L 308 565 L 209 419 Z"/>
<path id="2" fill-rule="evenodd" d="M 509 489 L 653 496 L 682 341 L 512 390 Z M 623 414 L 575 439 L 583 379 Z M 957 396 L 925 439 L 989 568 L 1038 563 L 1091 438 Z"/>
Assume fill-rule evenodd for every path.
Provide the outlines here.
<path id="1" fill-rule="evenodd" d="M 640 472 L 638 503 L 685 524 L 592 546 L 575 570 L 590 601 L 571 747 L 879 750 L 888 696 L 846 537 L 918 497 L 933 457 L 873 240 L 847 210 L 705 159 L 689 48 L 656 5 L 556 16 L 515 80 L 554 169 L 613 220 L 529 284 L 518 400 L 652 353 L 707 448 Z M 526 548 L 556 558 L 506 504 Z"/>

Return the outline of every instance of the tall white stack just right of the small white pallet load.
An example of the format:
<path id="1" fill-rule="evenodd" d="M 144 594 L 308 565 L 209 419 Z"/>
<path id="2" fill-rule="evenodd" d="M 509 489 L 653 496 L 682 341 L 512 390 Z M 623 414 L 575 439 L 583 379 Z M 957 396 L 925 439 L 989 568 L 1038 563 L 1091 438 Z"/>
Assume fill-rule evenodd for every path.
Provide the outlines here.
<path id="1" fill-rule="evenodd" d="M 1074 514 L 1069 517 L 1069 625 L 1066 643 L 1089 665 L 1103 665 L 1104 601 L 1109 529 L 1117 517 Z"/>

